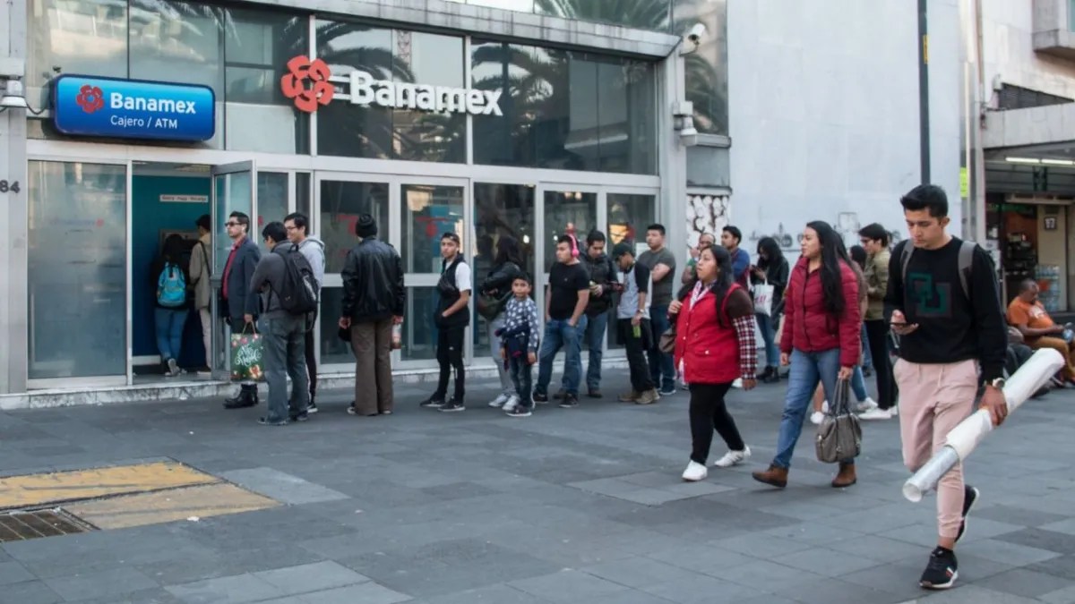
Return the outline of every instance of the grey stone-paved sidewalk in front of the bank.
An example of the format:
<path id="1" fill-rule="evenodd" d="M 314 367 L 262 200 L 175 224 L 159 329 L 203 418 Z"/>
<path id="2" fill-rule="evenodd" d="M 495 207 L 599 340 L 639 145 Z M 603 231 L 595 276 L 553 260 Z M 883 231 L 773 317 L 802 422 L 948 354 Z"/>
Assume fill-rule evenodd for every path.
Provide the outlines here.
<path id="1" fill-rule="evenodd" d="M 393 416 L 356 418 L 327 392 L 286 428 L 204 400 L 0 414 L 3 475 L 171 458 L 287 504 L 4 544 L 0 602 L 1075 602 L 1075 391 L 1029 402 L 975 454 L 959 587 L 931 594 L 934 500 L 901 498 L 894 421 L 866 426 L 846 490 L 807 426 L 776 491 L 749 472 L 773 455 L 784 386 L 733 391 L 754 458 L 684 484 L 686 394 L 643 407 L 614 402 L 624 372 L 605 384 L 527 419 L 486 407 L 488 382 L 460 414 L 402 386 Z"/>

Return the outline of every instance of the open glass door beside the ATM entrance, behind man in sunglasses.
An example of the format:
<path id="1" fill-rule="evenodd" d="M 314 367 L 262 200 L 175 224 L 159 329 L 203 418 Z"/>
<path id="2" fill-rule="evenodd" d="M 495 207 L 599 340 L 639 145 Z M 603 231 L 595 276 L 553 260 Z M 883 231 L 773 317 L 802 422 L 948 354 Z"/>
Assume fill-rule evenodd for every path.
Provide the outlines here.
<path id="1" fill-rule="evenodd" d="M 211 174 L 213 176 L 213 294 L 211 304 L 213 308 L 213 327 L 211 341 L 213 343 L 212 359 L 209 359 L 209 366 L 213 370 L 213 376 L 219 379 L 228 378 L 230 374 L 230 355 L 227 354 L 227 341 L 229 330 L 224 329 L 228 319 L 228 310 L 221 307 L 220 287 L 221 275 L 225 265 L 228 263 L 228 255 L 231 251 L 233 242 L 228 238 L 227 221 L 232 212 L 242 212 L 249 217 L 247 236 L 255 242 L 259 241 L 258 225 L 258 187 L 257 171 L 253 161 L 240 161 L 214 166 Z"/>

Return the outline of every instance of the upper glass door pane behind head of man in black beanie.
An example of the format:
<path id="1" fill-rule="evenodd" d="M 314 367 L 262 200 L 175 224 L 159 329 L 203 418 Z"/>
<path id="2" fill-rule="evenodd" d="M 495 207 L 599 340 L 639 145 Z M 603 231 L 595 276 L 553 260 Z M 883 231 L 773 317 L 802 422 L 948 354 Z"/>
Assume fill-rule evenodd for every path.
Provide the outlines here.
<path id="1" fill-rule="evenodd" d="M 325 242 L 325 272 L 343 271 L 355 244 L 355 224 L 362 214 L 373 215 L 382 241 L 391 241 L 388 225 L 388 185 L 349 181 L 321 181 L 320 229 Z"/>

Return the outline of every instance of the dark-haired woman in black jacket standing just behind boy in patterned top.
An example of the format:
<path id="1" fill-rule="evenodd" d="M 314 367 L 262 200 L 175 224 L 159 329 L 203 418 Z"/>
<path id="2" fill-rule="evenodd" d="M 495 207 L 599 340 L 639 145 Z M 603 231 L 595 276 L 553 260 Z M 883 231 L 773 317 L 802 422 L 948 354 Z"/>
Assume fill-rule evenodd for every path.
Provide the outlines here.
<path id="1" fill-rule="evenodd" d="M 515 408 L 519 398 L 515 393 L 512 377 L 507 374 L 504 362 L 500 358 L 500 337 L 496 335 L 496 332 L 504 327 L 504 308 L 513 296 L 512 283 L 515 282 L 516 277 L 526 277 L 524 265 L 522 249 L 519 247 L 518 240 L 511 235 L 500 235 L 500 240 L 497 242 L 497 256 L 492 261 L 492 270 L 489 271 L 478 288 L 482 292 L 478 303 L 484 308 L 488 308 L 483 313 L 483 316 L 485 316 L 488 326 L 489 354 L 492 357 L 492 363 L 497 365 L 497 373 L 500 375 L 500 393 L 489 402 L 489 406 L 500 407 L 504 411 Z M 484 308 L 479 308 L 479 312 Z"/>

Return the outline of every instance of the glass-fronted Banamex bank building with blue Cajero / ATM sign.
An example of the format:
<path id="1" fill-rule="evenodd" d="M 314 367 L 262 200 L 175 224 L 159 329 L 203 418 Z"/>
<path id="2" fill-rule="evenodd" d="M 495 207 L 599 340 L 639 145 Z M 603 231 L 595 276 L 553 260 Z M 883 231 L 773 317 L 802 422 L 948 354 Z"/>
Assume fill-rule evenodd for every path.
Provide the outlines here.
<path id="1" fill-rule="evenodd" d="M 328 264 L 319 364 L 341 376 L 339 271 L 362 213 L 403 258 L 408 318 L 393 354 L 405 372 L 433 366 L 443 231 L 462 234 L 477 275 L 514 236 L 539 278 L 563 233 L 641 242 L 659 220 L 683 241 L 688 147 L 727 156 L 723 1 L 610 4 L 0 4 L 0 104 L 12 105 L 0 113 L 0 394 L 223 385 L 216 318 L 211 358 L 196 320 L 181 358 L 212 378 L 154 374 L 148 265 L 168 234 L 194 245 L 201 214 L 215 288 L 231 212 L 253 217 L 256 240 L 288 212 L 310 215 Z M 685 44 L 679 29 L 700 19 L 708 31 Z M 727 173 L 705 181 L 726 190 Z M 482 320 L 468 361 L 491 368 Z"/>

